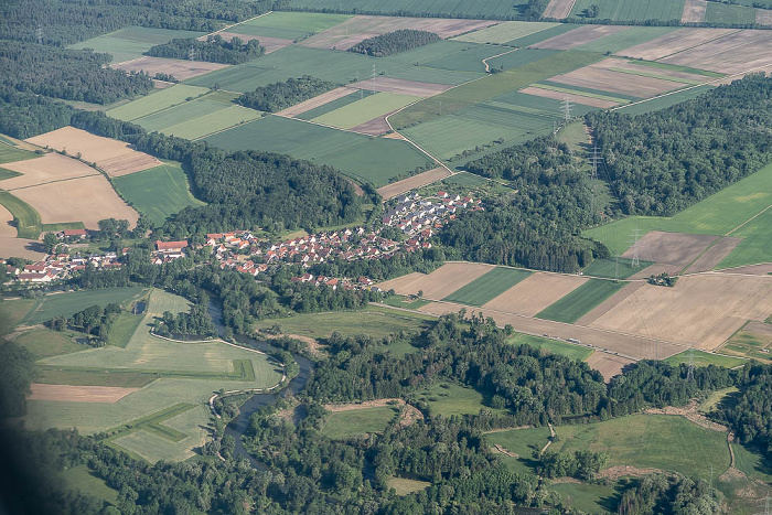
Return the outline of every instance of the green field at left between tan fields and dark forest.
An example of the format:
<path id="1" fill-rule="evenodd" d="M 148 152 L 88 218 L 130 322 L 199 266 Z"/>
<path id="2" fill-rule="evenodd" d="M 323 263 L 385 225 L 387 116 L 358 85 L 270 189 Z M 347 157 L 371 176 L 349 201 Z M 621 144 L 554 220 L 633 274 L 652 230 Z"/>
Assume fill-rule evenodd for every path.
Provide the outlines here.
<path id="1" fill-rule="evenodd" d="M 203 202 L 191 195 L 187 175 L 179 164 L 160 167 L 112 179 L 115 189 L 137 211 L 158 227 L 165 219 L 187 206 Z"/>

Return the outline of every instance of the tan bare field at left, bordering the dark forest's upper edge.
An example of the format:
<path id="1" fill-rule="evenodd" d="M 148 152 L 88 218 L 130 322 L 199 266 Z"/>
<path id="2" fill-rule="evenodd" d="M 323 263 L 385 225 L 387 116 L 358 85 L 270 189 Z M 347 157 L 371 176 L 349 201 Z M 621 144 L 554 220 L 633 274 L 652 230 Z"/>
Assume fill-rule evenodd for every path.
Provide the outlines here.
<path id="1" fill-rule="evenodd" d="M 65 149 L 71 155 L 79 152 L 81 159 L 96 163 L 112 178 L 163 164 L 150 154 L 132 150 L 128 143 L 103 138 L 75 127 L 63 127 L 30 138 L 28 141 L 40 147 Z"/>

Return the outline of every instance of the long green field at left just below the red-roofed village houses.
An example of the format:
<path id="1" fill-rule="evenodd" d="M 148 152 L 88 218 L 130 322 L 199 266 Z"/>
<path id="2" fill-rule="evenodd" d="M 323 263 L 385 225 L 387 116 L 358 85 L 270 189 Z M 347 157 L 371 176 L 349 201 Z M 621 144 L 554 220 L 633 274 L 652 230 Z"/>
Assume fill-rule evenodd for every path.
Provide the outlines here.
<path id="1" fill-rule="evenodd" d="M 35 302 L 21 323 L 33 325 L 46 322 L 54 316 L 69 316 L 95 304 L 124 303 L 139 297 L 142 291 L 142 287 L 131 287 L 47 294 Z"/>

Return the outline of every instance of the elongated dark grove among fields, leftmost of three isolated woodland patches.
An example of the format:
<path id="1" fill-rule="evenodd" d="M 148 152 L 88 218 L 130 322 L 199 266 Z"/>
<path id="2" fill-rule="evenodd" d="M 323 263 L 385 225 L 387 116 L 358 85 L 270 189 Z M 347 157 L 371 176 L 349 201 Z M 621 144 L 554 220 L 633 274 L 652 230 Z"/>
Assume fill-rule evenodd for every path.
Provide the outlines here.
<path id="1" fill-rule="evenodd" d="M 244 43 L 234 36 L 230 41 L 225 41 L 222 35 L 215 34 L 206 37 L 206 41 L 175 39 L 151 47 L 144 55 L 187 60 L 191 57 L 191 50 L 195 61 L 223 64 L 243 64 L 266 53 L 266 47 L 260 45 L 258 40 Z"/>

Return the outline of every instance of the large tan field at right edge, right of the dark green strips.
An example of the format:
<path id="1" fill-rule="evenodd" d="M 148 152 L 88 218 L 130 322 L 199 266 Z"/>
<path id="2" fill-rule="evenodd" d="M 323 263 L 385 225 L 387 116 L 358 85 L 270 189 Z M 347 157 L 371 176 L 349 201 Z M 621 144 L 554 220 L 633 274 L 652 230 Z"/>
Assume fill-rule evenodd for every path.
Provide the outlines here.
<path id="1" fill-rule="evenodd" d="M 703 273 L 646 285 L 592 326 L 715 350 L 748 320 L 772 313 L 772 278 Z"/>

